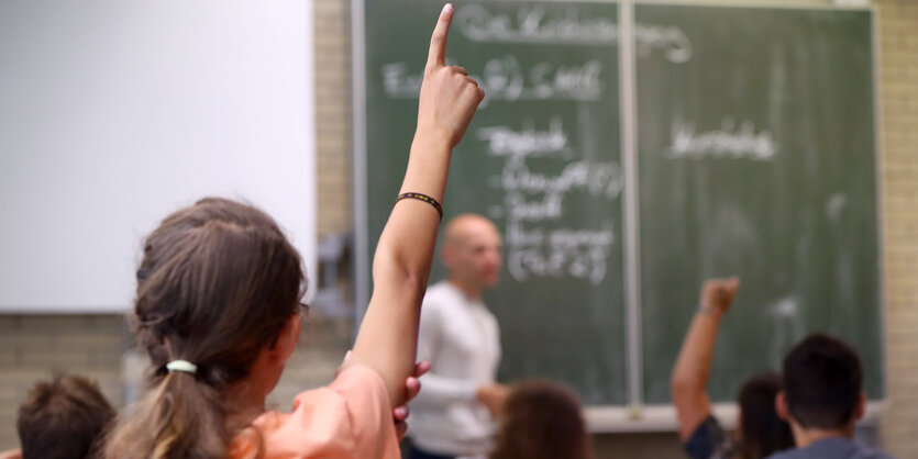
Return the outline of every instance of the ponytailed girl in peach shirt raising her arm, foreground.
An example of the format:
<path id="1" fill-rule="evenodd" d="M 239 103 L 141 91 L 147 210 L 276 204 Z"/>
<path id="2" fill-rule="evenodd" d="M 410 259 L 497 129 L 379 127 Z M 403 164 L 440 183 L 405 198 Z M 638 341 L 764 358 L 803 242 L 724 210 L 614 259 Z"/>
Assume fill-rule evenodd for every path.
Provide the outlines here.
<path id="1" fill-rule="evenodd" d="M 450 156 L 484 93 L 445 65 L 453 16 L 431 37 L 418 127 L 401 194 L 373 265 L 374 291 L 334 381 L 291 413 L 265 398 L 294 351 L 305 277 L 300 256 L 254 206 L 204 199 L 147 238 L 133 325 L 151 358 L 148 394 L 106 446 L 108 458 L 397 458 L 392 406 L 417 373 L 421 299 L 433 257 Z"/>

